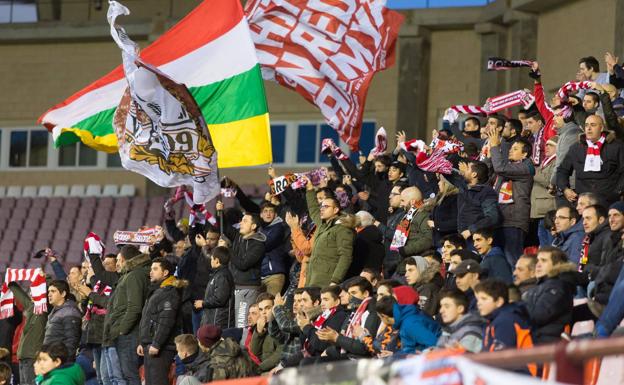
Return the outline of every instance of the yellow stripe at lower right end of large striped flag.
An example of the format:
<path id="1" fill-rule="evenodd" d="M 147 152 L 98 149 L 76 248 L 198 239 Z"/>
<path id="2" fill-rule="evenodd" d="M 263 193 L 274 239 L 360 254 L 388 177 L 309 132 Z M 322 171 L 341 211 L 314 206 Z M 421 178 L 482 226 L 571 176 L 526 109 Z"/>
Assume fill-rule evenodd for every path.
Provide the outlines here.
<path id="1" fill-rule="evenodd" d="M 258 166 L 273 160 L 269 114 L 209 124 L 219 168 Z"/>

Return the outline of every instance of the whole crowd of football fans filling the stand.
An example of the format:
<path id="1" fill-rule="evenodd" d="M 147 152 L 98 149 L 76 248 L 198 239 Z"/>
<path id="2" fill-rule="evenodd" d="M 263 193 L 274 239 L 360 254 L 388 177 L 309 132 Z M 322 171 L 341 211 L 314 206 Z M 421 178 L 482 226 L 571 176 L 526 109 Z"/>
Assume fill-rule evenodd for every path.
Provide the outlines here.
<path id="1" fill-rule="evenodd" d="M 218 224 L 185 227 L 169 201 L 167 235 L 149 250 L 90 254 L 68 274 L 47 250 L 51 311 L 35 314 L 27 290 L 9 284 L 20 311 L 2 338 L 19 340 L 14 383 L 199 384 L 526 348 L 570 338 L 583 320 L 611 335 L 624 318 L 613 300 L 624 295 L 624 71 L 605 61 L 600 73 L 582 58 L 577 76 L 591 89 L 550 103 L 534 63 L 532 108 L 467 117 L 431 147 L 399 132 L 394 151 L 356 165 L 330 143 L 326 179 L 301 177 L 304 188 L 259 204 L 224 178 L 239 205 L 218 202 Z M 449 143 L 459 144 L 441 160 L 451 169 L 424 166 Z M 0 365 L 0 384 L 10 372 Z"/>

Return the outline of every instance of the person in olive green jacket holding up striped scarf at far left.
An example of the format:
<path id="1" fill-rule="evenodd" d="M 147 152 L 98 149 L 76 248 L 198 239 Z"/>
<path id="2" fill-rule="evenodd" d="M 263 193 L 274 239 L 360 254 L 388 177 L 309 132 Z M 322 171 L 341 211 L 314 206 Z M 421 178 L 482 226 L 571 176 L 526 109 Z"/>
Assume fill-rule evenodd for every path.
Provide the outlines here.
<path id="1" fill-rule="evenodd" d="M 17 359 L 19 360 L 20 384 L 35 385 L 34 363 L 37 352 L 43 344 L 45 326 L 48 321 L 48 313 L 34 314 L 35 304 L 28 293 L 16 282 L 9 282 L 9 290 L 13 292 L 15 300 L 24 307 L 24 328 L 20 336 L 19 347 L 17 348 Z"/>

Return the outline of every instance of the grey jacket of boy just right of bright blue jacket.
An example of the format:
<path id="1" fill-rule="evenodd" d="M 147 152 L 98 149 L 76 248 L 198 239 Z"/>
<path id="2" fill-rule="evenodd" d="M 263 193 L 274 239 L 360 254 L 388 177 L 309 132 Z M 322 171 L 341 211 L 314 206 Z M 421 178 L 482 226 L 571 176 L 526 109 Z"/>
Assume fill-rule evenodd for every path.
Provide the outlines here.
<path id="1" fill-rule="evenodd" d="M 466 351 L 479 353 L 483 348 L 483 327 L 485 320 L 475 313 L 466 313 L 457 321 L 442 327 L 442 335 L 438 339 L 440 348 L 461 345 Z"/>

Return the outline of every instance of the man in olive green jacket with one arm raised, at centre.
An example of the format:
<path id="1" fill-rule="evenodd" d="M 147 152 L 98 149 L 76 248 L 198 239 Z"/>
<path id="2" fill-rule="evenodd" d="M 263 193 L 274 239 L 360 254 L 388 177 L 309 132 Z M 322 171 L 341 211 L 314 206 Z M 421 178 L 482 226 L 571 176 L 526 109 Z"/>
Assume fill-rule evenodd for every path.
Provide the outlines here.
<path id="1" fill-rule="evenodd" d="M 317 226 L 306 286 L 339 284 L 351 266 L 355 232 L 341 223 L 340 204 L 336 198 L 326 197 L 319 206 L 314 186 L 309 180 L 306 189 L 308 211 Z"/>

